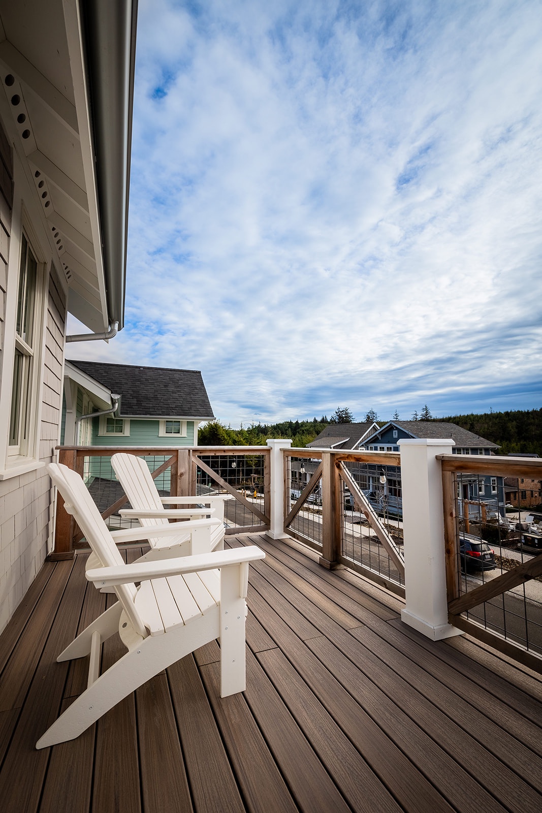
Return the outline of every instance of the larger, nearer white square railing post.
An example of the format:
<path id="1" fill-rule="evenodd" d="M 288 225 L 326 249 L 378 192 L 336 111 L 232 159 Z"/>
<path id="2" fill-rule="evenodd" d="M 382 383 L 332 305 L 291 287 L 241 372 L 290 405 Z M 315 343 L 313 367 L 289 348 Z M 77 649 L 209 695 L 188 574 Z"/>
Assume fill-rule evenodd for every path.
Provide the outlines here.
<path id="1" fill-rule="evenodd" d="M 439 641 L 462 634 L 448 623 L 442 472 L 436 459 L 451 454 L 454 442 L 409 438 L 399 446 L 406 598 L 401 620 Z"/>

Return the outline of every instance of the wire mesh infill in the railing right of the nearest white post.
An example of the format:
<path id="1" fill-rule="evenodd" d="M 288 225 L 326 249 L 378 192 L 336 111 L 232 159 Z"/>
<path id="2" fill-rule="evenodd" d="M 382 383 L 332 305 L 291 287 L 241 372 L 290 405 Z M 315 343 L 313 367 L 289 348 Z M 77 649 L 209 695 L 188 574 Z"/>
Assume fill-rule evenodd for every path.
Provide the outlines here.
<path id="1" fill-rule="evenodd" d="M 529 563 L 542 553 L 542 513 L 505 500 L 504 478 L 455 477 L 457 579 L 460 595 Z M 507 641 L 542 655 L 542 577 L 528 580 L 465 613 Z"/>

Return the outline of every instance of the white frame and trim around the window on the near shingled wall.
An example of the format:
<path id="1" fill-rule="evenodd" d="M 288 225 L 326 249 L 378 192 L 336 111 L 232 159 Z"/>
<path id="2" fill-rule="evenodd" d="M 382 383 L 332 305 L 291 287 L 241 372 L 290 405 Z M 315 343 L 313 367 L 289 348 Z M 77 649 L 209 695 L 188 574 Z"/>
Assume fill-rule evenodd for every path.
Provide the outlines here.
<path id="1" fill-rule="evenodd" d="M 11 234 L 13 238 L 13 233 Z M 33 316 L 32 316 L 32 340 L 31 344 L 25 341 L 24 337 L 17 333 L 17 318 L 19 311 L 19 286 L 21 274 L 21 254 L 24 242 L 28 246 L 28 250 L 32 251 L 33 258 L 36 261 L 36 276 L 34 280 L 33 290 Z M 40 383 L 41 383 L 41 358 L 43 354 L 42 345 L 44 341 L 44 302 L 46 296 L 46 287 L 48 283 L 48 276 L 46 275 L 46 263 L 40 256 L 39 242 L 33 235 L 33 232 L 25 224 L 20 232 L 18 259 L 17 259 L 17 281 L 15 293 L 15 346 L 13 350 L 13 368 L 11 372 L 11 389 L 10 389 L 10 412 L 7 422 L 7 465 L 12 466 L 17 463 L 27 462 L 28 459 L 37 458 L 37 425 L 38 425 L 38 412 L 39 412 L 39 398 L 40 398 Z M 27 254 L 28 257 L 28 254 Z M 25 263 L 25 269 L 27 268 Z M 20 389 L 20 404 L 19 404 L 19 430 L 18 442 L 11 444 L 11 416 L 14 396 L 14 379 L 15 379 L 15 354 L 20 353 L 24 357 L 22 374 L 26 378 L 26 382 L 21 382 Z"/>

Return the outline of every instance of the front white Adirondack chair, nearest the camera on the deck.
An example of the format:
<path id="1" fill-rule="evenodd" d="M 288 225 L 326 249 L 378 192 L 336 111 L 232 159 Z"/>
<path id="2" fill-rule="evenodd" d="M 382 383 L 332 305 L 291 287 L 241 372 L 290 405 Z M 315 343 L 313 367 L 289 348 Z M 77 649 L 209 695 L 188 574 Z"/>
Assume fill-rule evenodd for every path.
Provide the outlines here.
<path id="1" fill-rule="evenodd" d="M 221 696 L 243 691 L 249 562 L 263 559 L 263 551 L 249 546 L 127 565 L 80 476 L 59 463 L 47 470 L 99 560 L 87 579 L 112 586 L 119 601 L 59 654 L 59 661 L 90 654 L 89 683 L 36 747 L 78 737 L 146 680 L 215 638 Z M 133 531 L 140 537 L 156 533 L 155 528 Z M 171 532 L 176 533 L 174 526 L 161 529 L 166 536 Z M 128 652 L 99 676 L 102 642 L 117 630 Z"/>

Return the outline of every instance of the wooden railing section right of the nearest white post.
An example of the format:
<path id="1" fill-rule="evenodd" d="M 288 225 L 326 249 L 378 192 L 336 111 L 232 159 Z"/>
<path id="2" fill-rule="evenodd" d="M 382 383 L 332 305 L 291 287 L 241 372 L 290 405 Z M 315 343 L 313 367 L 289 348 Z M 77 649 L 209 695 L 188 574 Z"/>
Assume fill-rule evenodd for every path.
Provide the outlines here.
<path id="1" fill-rule="evenodd" d="M 470 476 L 492 476 L 492 477 L 523 477 L 529 480 L 542 480 L 542 460 L 540 459 L 518 459 L 485 455 L 468 454 L 441 454 L 438 455 L 442 468 L 442 487 L 444 499 L 444 544 L 446 558 L 446 587 L 448 595 L 448 617 L 449 623 L 453 627 L 470 633 L 480 640 L 489 643 L 501 652 L 524 663 L 528 667 L 542 672 L 542 604 L 536 606 L 536 602 L 531 602 L 535 608 L 539 620 L 531 622 L 531 627 L 537 630 L 537 641 L 531 641 L 531 651 L 527 646 L 518 646 L 513 637 L 506 634 L 496 633 L 492 630 L 491 624 L 475 623 L 464 613 L 473 611 L 485 602 L 503 595 L 509 590 L 524 585 L 527 581 L 537 579 L 542 576 L 542 554 L 534 555 L 528 561 L 518 561 L 518 565 L 510 567 L 509 561 L 505 572 L 491 580 L 483 581 L 482 584 L 468 592 L 461 589 L 462 563 L 459 550 L 459 540 L 462 533 L 469 533 L 473 528 L 468 522 L 468 505 L 475 502 L 470 499 L 461 499 L 457 496 L 458 477 L 462 475 Z M 460 481 L 460 480 L 459 480 Z M 460 481 L 461 482 L 461 481 Z M 460 506 L 462 505 L 462 511 Z M 467 522 L 464 514 L 467 511 Z M 488 524 L 486 511 L 482 512 L 481 526 Z M 496 517 L 496 528 L 498 529 L 499 517 Z M 460 528 L 462 524 L 462 528 Z M 508 532 L 503 532 L 508 535 Z M 482 534 L 483 536 L 483 534 Z M 463 565 L 464 570 L 466 564 Z M 540 585 L 542 590 L 542 585 Z M 524 599 L 527 602 L 527 598 Z M 503 612 L 504 612 L 503 599 Z M 484 611 L 484 616 L 486 612 Z M 525 607 L 525 624 L 528 622 L 528 608 Z M 534 637 L 534 636 L 533 636 Z M 533 651 L 538 650 L 538 651 Z"/>

